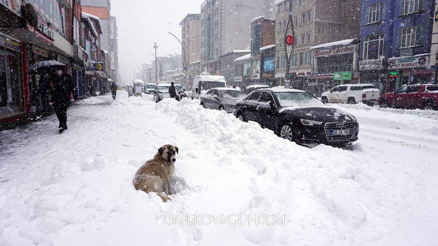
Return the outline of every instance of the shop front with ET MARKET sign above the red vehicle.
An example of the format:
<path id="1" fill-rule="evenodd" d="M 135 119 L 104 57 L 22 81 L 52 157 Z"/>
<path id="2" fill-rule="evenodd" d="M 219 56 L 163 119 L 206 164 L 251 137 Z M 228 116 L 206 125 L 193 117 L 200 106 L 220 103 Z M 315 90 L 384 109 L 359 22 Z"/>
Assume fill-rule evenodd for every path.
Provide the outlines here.
<path id="1" fill-rule="evenodd" d="M 436 83 L 435 66 L 431 55 L 396 57 L 388 59 L 388 79 L 386 91 L 394 91 L 404 84 Z"/>

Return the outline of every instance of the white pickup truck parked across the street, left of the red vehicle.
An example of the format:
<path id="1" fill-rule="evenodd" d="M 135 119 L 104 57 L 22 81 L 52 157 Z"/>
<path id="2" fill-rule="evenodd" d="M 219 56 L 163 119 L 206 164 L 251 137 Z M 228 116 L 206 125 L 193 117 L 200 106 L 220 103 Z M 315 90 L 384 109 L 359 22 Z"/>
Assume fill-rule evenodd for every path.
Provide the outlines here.
<path id="1" fill-rule="evenodd" d="M 325 103 L 350 103 L 363 102 L 372 105 L 377 102 L 380 90 L 373 84 L 353 83 L 337 85 L 321 95 L 321 100 Z"/>

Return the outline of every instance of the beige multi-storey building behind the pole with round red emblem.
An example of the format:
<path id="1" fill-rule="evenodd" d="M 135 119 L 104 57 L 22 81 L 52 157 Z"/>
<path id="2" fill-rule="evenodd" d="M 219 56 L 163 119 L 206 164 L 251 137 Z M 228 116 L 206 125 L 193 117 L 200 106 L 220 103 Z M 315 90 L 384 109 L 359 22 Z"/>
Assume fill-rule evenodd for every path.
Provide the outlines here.
<path id="1" fill-rule="evenodd" d="M 292 0 L 294 52 L 290 62 L 291 86 L 312 93 L 324 87 L 312 79 L 311 47 L 333 41 L 359 38 L 360 0 Z M 286 78 L 285 30 L 288 22 L 288 0 L 276 2 L 276 68 L 275 77 Z M 356 20 L 356 21 L 355 21 Z M 318 75 L 317 75 L 318 76 Z"/>

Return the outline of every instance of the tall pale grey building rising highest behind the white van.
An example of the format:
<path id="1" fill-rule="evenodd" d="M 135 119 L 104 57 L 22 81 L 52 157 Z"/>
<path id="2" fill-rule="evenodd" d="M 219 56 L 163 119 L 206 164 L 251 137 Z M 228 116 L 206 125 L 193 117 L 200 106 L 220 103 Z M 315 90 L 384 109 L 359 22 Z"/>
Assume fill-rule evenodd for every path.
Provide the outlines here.
<path id="1" fill-rule="evenodd" d="M 201 65 L 220 75 L 219 58 L 232 50 L 249 49 L 250 22 L 274 17 L 274 0 L 205 0 L 201 4 Z"/>

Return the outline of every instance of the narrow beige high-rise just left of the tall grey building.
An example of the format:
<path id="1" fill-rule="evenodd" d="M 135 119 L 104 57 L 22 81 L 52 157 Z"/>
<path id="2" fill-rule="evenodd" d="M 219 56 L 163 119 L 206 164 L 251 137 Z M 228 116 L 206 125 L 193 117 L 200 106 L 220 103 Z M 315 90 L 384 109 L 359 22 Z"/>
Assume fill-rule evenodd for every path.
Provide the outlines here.
<path id="1" fill-rule="evenodd" d="M 192 63 L 201 59 L 201 14 L 187 14 L 180 26 L 183 65 L 186 66 L 188 80 L 192 81 L 198 75 L 192 69 Z"/>

